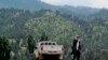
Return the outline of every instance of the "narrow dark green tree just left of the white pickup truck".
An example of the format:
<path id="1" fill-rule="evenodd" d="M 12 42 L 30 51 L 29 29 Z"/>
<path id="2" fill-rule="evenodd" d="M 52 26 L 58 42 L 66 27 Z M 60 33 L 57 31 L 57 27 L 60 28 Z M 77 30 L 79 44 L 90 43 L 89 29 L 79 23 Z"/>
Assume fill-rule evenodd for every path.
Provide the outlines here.
<path id="1" fill-rule="evenodd" d="M 35 40 L 31 34 L 28 35 L 27 43 L 28 43 L 28 50 L 30 54 L 32 54 L 35 49 Z"/>

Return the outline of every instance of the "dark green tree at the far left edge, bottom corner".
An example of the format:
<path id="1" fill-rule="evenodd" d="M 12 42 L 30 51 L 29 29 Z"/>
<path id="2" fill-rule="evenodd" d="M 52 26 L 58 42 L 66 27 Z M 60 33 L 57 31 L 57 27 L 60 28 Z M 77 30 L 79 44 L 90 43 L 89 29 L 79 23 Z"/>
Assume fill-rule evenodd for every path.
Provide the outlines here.
<path id="1" fill-rule="evenodd" d="M 0 60 L 10 60 L 11 47 L 5 36 L 0 36 Z"/>

